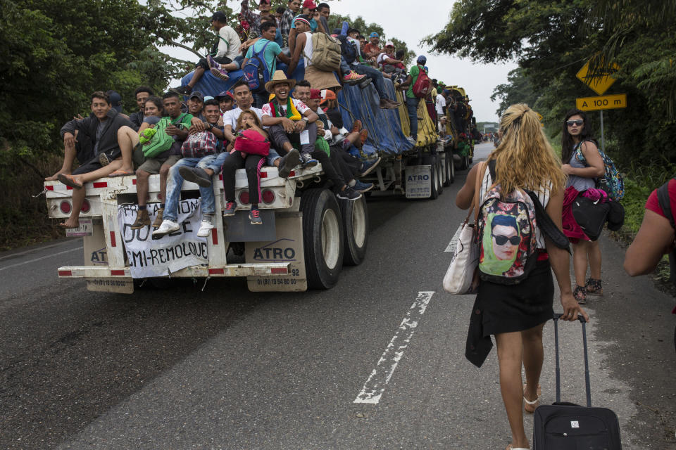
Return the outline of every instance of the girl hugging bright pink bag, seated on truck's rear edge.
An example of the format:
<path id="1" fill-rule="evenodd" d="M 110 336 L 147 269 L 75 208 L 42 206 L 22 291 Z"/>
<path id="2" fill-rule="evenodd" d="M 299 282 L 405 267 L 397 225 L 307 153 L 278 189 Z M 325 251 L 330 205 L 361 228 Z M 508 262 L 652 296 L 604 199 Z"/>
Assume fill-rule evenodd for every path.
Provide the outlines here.
<path id="1" fill-rule="evenodd" d="M 262 225 L 261 212 L 258 210 L 258 200 L 261 198 L 261 167 L 265 163 L 265 156 L 270 151 L 268 132 L 263 130 L 261 120 L 253 111 L 242 111 L 237 119 L 239 136 L 234 141 L 234 148 L 230 151 L 230 158 L 223 162 L 223 193 L 225 194 L 224 216 L 234 216 L 237 202 L 234 197 L 235 174 L 237 169 L 246 168 L 246 178 L 249 180 L 249 202 L 251 212 L 249 220 L 252 225 Z M 256 136 L 258 134 L 258 136 Z M 262 139 L 258 139 L 258 137 Z M 268 151 L 265 152 L 265 146 Z M 258 148 L 256 153 L 250 153 Z M 246 151 L 249 150 L 249 151 Z"/>

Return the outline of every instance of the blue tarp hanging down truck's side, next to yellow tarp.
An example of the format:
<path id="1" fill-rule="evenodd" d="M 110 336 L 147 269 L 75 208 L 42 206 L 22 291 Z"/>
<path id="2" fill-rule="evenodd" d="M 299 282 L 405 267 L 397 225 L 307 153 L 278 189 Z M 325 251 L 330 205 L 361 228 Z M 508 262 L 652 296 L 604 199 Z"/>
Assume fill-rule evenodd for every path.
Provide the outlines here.
<path id="1" fill-rule="evenodd" d="M 392 80 L 386 78 L 384 82 L 389 98 L 396 99 Z M 400 155 L 413 148 L 401 131 L 399 111 L 380 109 L 380 98 L 373 83 L 365 89 L 344 85 L 338 93 L 338 103 L 346 129 L 352 127 L 354 119 L 361 120 L 363 127 L 368 129 L 368 141 L 363 147 L 365 153 Z"/>

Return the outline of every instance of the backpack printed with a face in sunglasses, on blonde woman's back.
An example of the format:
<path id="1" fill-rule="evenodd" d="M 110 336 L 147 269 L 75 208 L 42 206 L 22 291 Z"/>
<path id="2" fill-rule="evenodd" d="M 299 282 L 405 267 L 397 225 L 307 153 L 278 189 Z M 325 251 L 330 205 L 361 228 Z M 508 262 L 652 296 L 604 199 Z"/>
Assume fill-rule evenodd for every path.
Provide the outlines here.
<path id="1" fill-rule="evenodd" d="M 494 179 L 492 167 L 490 172 Z M 492 283 L 518 284 L 537 262 L 533 200 L 522 189 L 505 194 L 499 184 L 491 186 L 482 200 L 477 219 L 479 275 Z"/>

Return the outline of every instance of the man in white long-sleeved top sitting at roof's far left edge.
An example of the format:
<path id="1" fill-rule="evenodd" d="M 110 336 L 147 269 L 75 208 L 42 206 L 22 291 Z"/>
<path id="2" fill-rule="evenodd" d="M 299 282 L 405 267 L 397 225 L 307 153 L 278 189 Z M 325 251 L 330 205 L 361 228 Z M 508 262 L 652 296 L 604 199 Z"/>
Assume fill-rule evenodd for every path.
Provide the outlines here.
<path id="1" fill-rule="evenodd" d="M 228 79 L 228 70 L 238 70 L 242 63 L 242 56 L 239 54 L 239 34 L 227 25 L 227 15 L 223 11 L 216 11 L 211 16 L 211 27 L 218 33 L 218 41 L 213 44 L 211 53 L 206 58 L 201 58 L 195 66 L 192 79 L 187 86 L 171 88 L 177 94 L 189 95 L 193 86 L 199 82 L 206 70 L 220 79 Z"/>

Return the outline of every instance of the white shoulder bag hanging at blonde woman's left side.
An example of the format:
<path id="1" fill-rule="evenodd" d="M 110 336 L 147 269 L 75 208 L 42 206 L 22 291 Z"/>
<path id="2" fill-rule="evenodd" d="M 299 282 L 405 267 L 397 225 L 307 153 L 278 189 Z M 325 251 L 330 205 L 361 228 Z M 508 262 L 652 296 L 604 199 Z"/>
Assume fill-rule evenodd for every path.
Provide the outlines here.
<path id="1" fill-rule="evenodd" d="M 451 294 L 475 294 L 479 287 L 477 266 L 479 266 L 479 245 L 477 243 L 476 215 L 475 223 L 469 224 L 472 211 L 478 212 L 480 207 L 481 181 L 486 169 L 486 163 L 481 162 L 477 170 L 477 179 L 472 205 L 465 217 L 465 221 L 458 227 L 453 239 L 453 259 L 444 275 L 444 290 Z"/>

